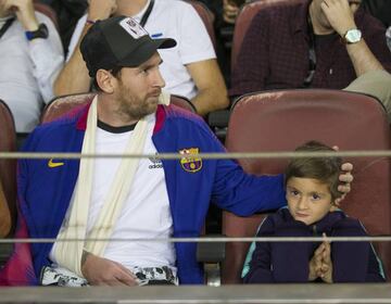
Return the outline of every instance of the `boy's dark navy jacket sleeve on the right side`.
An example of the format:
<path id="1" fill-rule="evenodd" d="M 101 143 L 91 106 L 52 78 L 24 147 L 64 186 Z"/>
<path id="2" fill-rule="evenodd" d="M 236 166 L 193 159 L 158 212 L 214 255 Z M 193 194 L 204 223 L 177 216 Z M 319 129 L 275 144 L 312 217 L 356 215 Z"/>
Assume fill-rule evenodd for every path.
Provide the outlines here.
<path id="1" fill-rule="evenodd" d="M 332 237 L 366 237 L 364 227 L 357 219 L 339 220 Z M 384 281 L 371 244 L 369 242 L 333 242 L 331 244 L 333 282 Z"/>

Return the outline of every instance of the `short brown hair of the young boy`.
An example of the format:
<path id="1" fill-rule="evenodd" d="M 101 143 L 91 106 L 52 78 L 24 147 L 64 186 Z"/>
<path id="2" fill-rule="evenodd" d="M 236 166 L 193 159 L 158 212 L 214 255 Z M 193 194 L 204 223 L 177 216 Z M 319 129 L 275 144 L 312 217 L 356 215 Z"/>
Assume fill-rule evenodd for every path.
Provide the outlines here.
<path id="1" fill-rule="evenodd" d="M 312 140 L 298 147 L 294 151 L 329 152 L 335 150 L 321 142 Z M 287 185 L 288 180 L 292 177 L 314 178 L 329 186 L 331 200 L 335 201 L 342 195 L 342 193 L 338 191 L 341 164 L 342 159 L 338 156 L 293 159 L 286 168 L 285 185 Z"/>

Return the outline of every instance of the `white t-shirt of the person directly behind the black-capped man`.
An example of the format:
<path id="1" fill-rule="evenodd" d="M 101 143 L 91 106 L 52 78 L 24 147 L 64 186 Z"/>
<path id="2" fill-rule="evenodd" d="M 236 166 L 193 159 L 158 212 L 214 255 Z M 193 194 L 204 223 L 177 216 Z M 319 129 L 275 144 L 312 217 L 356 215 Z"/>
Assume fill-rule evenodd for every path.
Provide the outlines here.
<path id="1" fill-rule="evenodd" d="M 147 7 L 148 3 L 134 16 L 138 22 Z M 68 59 L 77 46 L 86 20 L 87 15 L 78 21 L 70 43 Z M 192 99 L 198 90 L 185 65 L 216 58 L 211 38 L 197 11 L 180 0 L 155 0 L 144 28 L 152 38 L 174 38 L 177 41 L 175 48 L 159 50 L 163 59 L 161 73 L 166 81 L 165 90 Z"/>

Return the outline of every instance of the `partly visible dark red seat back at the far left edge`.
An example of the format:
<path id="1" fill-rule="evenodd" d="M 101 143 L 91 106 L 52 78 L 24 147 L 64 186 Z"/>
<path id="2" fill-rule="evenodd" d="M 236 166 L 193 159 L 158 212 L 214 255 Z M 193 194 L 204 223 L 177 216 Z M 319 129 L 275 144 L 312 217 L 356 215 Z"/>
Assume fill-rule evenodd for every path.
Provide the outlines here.
<path id="1" fill-rule="evenodd" d="M 16 151 L 16 130 L 12 113 L 0 100 L 0 151 Z M 0 182 L 11 212 L 12 223 L 16 218 L 16 160 L 0 159 Z"/>

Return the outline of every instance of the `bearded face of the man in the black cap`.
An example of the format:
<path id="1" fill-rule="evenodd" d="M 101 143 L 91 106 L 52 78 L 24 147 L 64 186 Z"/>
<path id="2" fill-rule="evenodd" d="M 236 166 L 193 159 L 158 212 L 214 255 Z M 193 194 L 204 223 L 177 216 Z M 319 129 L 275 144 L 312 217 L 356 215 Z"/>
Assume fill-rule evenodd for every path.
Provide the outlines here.
<path id="1" fill-rule="evenodd" d="M 116 114 L 127 121 L 139 121 L 156 111 L 165 83 L 159 71 L 162 59 L 157 52 L 138 67 L 123 67 L 117 76 Z"/>

